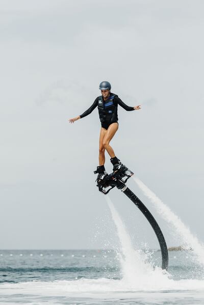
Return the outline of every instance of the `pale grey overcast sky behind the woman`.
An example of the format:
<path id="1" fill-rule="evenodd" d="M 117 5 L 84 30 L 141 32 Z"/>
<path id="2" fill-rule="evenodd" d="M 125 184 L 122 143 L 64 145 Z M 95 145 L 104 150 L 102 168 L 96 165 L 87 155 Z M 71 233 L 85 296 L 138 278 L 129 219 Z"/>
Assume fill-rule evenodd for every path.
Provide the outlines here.
<path id="1" fill-rule="evenodd" d="M 118 109 L 116 156 L 204 241 L 203 9 L 202 0 L 0 0 L 0 248 L 117 244 L 93 174 L 97 109 L 68 123 L 103 80 L 127 105 L 142 104 Z M 128 185 L 167 244 L 180 244 Z M 134 244 L 159 247 L 131 201 L 117 189 L 110 197 Z"/>

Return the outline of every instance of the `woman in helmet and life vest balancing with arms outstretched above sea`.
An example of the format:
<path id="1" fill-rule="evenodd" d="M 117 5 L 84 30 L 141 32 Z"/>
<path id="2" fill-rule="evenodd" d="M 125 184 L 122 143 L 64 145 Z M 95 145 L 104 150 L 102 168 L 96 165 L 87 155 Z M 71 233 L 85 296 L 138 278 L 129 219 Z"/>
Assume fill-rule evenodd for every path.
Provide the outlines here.
<path id="1" fill-rule="evenodd" d="M 69 119 L 73 123 L 82 119 L 92 113 L 93 109 L 98 106 L 99 119 L 101 122 L 100 137 L 99 137 L 99 166 L 94 173 L 98 173 L 97 183 L 99 183 L 106 175 L 105 164 L 105 150 L 111 157 L 113 164 L 113 172 L 117 172 L 121 167 L 120 160 L 115 156 L 113 148 L 110 146 L 114 134 L 118 130 L 118 105 L 127 111 L 141 109 L 141 106 L 130 107 L 125 105 L 121 99 L 114 93 L 111 93 L 111 84 L 108 81 L 102 81 L 99 85 L 101 96 L 98 96 L 94 103 L 81 116 Z"/>

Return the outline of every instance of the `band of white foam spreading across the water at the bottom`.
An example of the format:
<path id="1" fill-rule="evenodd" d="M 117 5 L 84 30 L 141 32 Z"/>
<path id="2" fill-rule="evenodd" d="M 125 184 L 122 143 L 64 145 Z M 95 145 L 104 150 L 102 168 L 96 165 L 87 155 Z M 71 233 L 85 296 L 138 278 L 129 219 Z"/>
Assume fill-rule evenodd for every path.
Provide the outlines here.
<path id="1" fill-rule="evenodd" d="M 158 281 L 155 278 L 146 279 L 146 283 L 133 287 L 124 280 L 110 279 L 79 279 L 73 281 L 4 283 L 0 286 L 0 295 L 32 294 L 32 295 L 69 295 L 70 293 L 102 293 L 102 292 L 137 292 L 137 291 L 204 291 L 203 280 Z"/>

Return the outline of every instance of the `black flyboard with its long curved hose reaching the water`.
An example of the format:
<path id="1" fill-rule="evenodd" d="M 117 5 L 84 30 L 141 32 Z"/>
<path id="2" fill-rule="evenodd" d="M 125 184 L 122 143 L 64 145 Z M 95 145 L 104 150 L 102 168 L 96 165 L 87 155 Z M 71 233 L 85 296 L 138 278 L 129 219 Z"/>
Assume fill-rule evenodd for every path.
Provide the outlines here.
<path id="1" fill-rule="evenodd" d="M 95 173 L 95 172 L 94 172 Z M 162 253 L 162 269 L 168 268 L 168 249 L 166 245 L 166 241 L 164 239 L 164 235 L 149 210 L 146 206 L 141 202 L 141 200 L 126 186 L 126 181 L 129 179 L 134 173 L 127 169 L 125 165 L 121 165 L 120 169 L 117 172 L 111 173 L 105 176 L 98 184 L 97 187 L 99 191 L 103 192 L 105 195 L 114 188 L 115 186 L 120 189 L 132 202 L 138 207 L 138 209 L 143 213 L 146 219 L 149 221 L 152 229 L 155 231 L 157 239 L 160 244 L 161 253 Z"/>

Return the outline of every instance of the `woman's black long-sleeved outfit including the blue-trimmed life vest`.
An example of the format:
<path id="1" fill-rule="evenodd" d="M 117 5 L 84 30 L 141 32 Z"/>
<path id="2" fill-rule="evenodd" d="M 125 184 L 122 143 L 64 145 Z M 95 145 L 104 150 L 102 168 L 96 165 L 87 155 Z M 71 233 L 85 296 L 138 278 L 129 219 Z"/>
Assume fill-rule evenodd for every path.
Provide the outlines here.
<path id="1" fill-rule="evenodd" d="M 102 108 L 101 105 L 102 104 Z M 118 105 L 120 105 L 122 108 L 124 108 L 126 111 L 132 111 L 134 110 L 134 107 L 127 106 L 117 95 L 110 93 L 110 97 L 105 101 L 102 96 L 98 96 L 93 104 L 80 116 L 81 119 L 90 115 L 92 111 L 98 106 L 98 113 L 99 118 L 101 122 L 101 127 L 108 129 L 108 127 L 113 123 L 118 123 L 118 114 L 117 114 L 117 108 Z M 101 112 L 103 113 L 111 113 L 113 109 L 114 115 L 102 115 L 101 118 Z"/>

